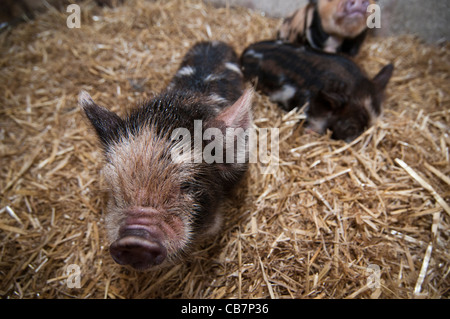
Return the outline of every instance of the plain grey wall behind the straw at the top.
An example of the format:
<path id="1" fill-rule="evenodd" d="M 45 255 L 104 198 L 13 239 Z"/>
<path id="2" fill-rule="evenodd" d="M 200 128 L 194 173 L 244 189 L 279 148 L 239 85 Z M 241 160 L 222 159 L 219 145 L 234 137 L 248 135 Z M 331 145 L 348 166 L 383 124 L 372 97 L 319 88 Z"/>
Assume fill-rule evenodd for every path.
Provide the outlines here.
<path id="1" fill-rule="evenodd" d="M 308 0 L 206 0 L 216 5 L 244 6 L 280 18 Z M 381 36 L 417 34 L 428 42 L 450 40 L 450 0 L 379 0 Z"/>

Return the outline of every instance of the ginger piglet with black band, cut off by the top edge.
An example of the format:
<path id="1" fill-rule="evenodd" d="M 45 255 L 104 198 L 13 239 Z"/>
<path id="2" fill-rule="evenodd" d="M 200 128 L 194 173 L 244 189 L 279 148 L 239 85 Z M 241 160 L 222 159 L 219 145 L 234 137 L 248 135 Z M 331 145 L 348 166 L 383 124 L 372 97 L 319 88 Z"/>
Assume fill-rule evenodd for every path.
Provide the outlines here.
<path id="1" fill-rule="evenodd" d="M 330 53 L 358 53 L 366 34 L 367 8 L 374 0 L 310 0 L 284 19 L 277 37 Z"/>

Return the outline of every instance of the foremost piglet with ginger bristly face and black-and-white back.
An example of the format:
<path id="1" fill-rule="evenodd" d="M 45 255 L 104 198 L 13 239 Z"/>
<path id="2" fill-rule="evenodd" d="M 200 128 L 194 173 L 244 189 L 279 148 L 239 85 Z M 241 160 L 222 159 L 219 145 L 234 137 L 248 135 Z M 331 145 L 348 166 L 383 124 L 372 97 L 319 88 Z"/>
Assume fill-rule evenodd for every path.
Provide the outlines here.
<path id="1" fill-rule="evenodd" d="M 225 132 L 250 126 L 252 91 L 244 91 L 238 63 L 223 42 L 197 43 L 167 88 L 125 117 L 80 93 L 79 105 L 103 149 L 106 230 L 118 264 L 136 270 L 171 265 L 201 238 L 218 232 L 222 203 L 247 162 L 207 163 L 180 150 L 190 151 L 184 148 L 190 138 L 208 128 Z M 180 140 L 179 130 L 190 138 Z M 200 147 L 211 140 L 200 140 Z"/>

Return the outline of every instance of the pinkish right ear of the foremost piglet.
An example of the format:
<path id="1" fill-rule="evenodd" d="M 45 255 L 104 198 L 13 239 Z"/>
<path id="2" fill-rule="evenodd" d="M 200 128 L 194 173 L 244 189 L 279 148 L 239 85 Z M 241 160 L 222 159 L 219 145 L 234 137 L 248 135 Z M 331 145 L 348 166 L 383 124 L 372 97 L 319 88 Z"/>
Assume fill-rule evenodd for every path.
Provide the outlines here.
<path id="1" fill-rule="evenodd" d="M 244 94 L 233 105 L 227 107 L 217 115 L 215 122 L 224 123 L 225 128 L 240 127 L 245 130 L 250 127 L 252 121 L 251 106 L 253 94 L 254 90 L 252 88 L 246 89 Z"/>

